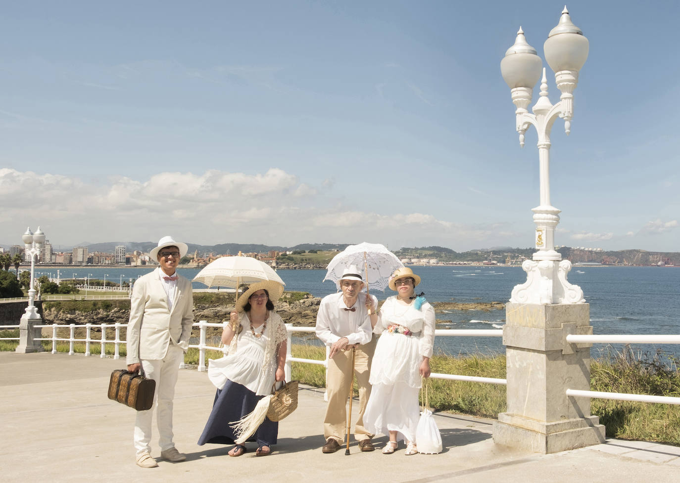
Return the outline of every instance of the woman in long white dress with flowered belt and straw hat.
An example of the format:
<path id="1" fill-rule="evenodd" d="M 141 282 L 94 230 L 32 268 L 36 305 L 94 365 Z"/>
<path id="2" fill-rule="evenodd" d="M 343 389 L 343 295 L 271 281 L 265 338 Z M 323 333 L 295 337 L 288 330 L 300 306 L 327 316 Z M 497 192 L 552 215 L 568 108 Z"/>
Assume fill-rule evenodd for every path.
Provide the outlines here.
<path id="1" fill-rule="evenodd" d="M 389 285 L 397 294 L 385 301 L 373 327 L 381 336 L 371 366 L 373 389 L 364 426 L 371 433 L 390 436 L 384 454 L 392 454 L 399 440 L 407 443 L 405 454 L 418 453 L 418 390 L 421 377 L 430 376 L 435 342 L 435 309 L 425 301 L 424 293 L 415 295 L 418 284 L 420 276 L 410 268 L 396 270 Z"/>

